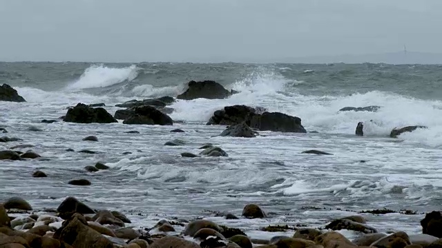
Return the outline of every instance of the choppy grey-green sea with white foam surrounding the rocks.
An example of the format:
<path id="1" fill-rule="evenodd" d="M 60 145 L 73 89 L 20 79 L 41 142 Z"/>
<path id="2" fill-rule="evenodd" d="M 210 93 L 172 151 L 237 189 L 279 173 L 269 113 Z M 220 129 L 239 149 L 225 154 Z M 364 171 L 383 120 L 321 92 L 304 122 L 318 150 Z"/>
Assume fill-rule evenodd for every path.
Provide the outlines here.
<path id="1" fill-rule="evenodd" d="M 41 123 L 58 119 L 77 103 L 105 103 L 114 114 L 131 99 L 177 96 L 190 80 L 214 80 L 240 93 L 228 99 L 173 103 L 173 126 Z M 18 144 L 43 159 L 0 161 L 0 201 L 21 196 L 35 209 L 57 207 L 75 196 L 95 208 L 117 209 L 135 227 L 166 218 L 209 218 L 239 227 L 252 238 L 287 233 L 260 231 L 267 225 L 323 227 L 330 220 L 369 209 L 410 209 L 416 215 L 362 214 L 378 231 L 420 233 L 421 213 L 442 203 L 442 66 L 385 64 L 193 64 L 193 63 L 0 63 L 0 83 L 15 87 L 26 103 L 0 102 L 0 125 Z M 227 105 L 266 107 L 298 116 L 307 134 L 260 132 L 257 138 L 213 137 L 223 126 L 206 126 Z M 342 107 L 379 105 L 378 112 L 338 112 Z M 365 136 L 354 135 L 365 122 Z M 394 127 L 426 130 L 389 138 Z M 41 132 L 30 132 L 28 127 Z M 180 128 L 185 133 L 171 133 Z M 137 130 L 140 134 L 125 132 Z M 316 131 L 311 133 L 311 131 Z M 81 141 L 95 135 L 99 142 Z M 175 138 L 179 147 L 164 146 Z M 229 157 L 182 158 L 204 143 Z M 66 152 L 91 149 L 97 154 Z M 320 149 L 332 156 L 301 154 Z M 131 152 L 131 154 L 124 154 Z M 86 165 L 111 169 L 94 174 Z M 362 163 L 361 161 L 365 161 Z M 47 178 L 32 178 L 41 169 Z M 91 186 L 68 185 L 86 178 Z M 401 189 L 401 190 L 398 190 Z M 248 203 L 269 218 L 226 220 L 214 211 L 240 216 Z M 178 230 L 179 231 L 179 230 Z M 346 236 L 356 234 L 343 231 Z"/>

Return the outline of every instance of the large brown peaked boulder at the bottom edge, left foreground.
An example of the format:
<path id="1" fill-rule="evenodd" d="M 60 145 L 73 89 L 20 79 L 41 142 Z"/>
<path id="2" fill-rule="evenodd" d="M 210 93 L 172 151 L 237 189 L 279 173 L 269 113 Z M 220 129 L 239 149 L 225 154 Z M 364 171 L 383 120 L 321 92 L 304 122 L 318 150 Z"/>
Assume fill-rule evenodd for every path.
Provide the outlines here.
<path id="1" fill-rule="evenodd" d="M 88 227 L 83 216 L 74 214 L 72 218 L 66 220 L 61 228 L 55 231 L 53 238 L 66 242 L 72 247 L 97 247 L 113 248 L 113 242 L 104 238 L 102 234 Z"/>

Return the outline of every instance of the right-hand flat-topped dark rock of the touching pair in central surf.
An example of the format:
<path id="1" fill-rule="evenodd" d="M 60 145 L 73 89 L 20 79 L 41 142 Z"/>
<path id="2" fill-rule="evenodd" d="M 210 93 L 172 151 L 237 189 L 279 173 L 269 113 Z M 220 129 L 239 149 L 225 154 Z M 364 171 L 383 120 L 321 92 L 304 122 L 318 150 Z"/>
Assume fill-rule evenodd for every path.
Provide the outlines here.
<path id="1" fill-rule="evenodd" d="M 265 112 L 251 117 L 249 126 L 260 131 L 306 133 L 301 119 L 279 112 Z"/>

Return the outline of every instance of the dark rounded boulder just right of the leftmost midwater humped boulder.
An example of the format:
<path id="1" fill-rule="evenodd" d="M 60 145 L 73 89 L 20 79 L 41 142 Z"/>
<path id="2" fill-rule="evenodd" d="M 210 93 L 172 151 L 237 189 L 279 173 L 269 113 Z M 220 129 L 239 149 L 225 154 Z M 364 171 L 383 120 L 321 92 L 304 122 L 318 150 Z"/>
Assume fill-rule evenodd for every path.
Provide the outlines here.
<path id="1" fill-rule="evenodd" d="M 173 120 L 167 114 L 149 105 L 135 107 L 135 114 L 123 121 L 124 124 L 138 125 L 173 125 Z"/>

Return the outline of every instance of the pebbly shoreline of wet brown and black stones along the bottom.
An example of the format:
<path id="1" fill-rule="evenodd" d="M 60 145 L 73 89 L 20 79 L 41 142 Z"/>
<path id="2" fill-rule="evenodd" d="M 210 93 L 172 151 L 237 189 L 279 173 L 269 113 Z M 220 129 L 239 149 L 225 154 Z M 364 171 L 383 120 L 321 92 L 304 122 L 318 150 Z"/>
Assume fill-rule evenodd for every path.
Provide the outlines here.
<path id="1" fill-rule="evenodd" d="M 373 214 L 382 214 L 373 211 Z M 241 216 L 216 213 L 227 220 L 267 218 L 258 205 L 244 206 Z M 410 214 L 410 213 L 408 213 Z M 294 231 L 294 234 L 251 238 L 241 229 L 198 218 L 193 220 L 161 219 L 152 227 L 136 227 L 119 211 L 92 209 L 74 197 L 68 197 L 57 209 L 32 209 L 24 199 L 12 197 L 0 204 L 0 247 L 131 247 L 131 248 L 347 248 L 392 247 L 420 248 L 442 246 L 442 215 L 427 213 L 420 222 L 422 234 L 378 232 L 363 216 L 338 218 L 323 227 L 262 227 L 269 233 Z M 416 223 L 419 225 L 419 223 Z M 349 240 L 340 231 L 356 234 Z"/>

